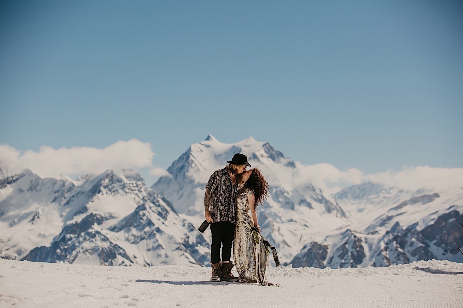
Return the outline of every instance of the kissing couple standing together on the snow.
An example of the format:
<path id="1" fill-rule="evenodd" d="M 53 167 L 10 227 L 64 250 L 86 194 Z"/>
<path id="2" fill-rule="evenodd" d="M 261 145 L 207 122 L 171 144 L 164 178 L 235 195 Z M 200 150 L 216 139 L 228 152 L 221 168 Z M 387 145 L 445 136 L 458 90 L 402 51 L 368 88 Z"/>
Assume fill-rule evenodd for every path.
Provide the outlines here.
<path id="1" fill-rule="evenodd" d="M 265 271 L 270 250 L 277 266 L 280 265 L 278 256 L 260 234 L 256 214 L 258 205 L 267 196 L 269 184 L 259 169 L 246 170 L 251 167 L 246 155 L 237 153 L 227 163 L 210 176 L 204 194 L 204 216 L 212 233 L 211 281 L 274 285 L 267 281 Z M 230 260 L 232 243 L 235 264 Z M 232 274 L 235 265 L 238 277 Z"/>

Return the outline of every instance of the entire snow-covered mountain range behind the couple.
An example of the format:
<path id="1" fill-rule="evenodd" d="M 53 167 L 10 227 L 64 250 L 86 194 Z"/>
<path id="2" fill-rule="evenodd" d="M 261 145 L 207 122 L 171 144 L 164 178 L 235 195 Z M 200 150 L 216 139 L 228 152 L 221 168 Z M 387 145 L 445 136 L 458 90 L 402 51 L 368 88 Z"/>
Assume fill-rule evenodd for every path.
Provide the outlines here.
<path id="1" fill-rule="evenodd" d="M 210 231 L 197 230 L 204 220 L 204 187 L 234 153 L 246 154 L 269 182 L 258 220 L 282 263 L 338 268 L 463 262 L 463 187 L 412 191 L 367 181 L 329 193 L 311 183 L 304 164 L 268 142 L 250 137 L 226 144 L 212 135 L 191 145 L 151 187 L 132 170 L 71 180 L 0 168 L 0 257 L 207 266 Z"/>

